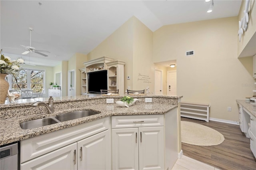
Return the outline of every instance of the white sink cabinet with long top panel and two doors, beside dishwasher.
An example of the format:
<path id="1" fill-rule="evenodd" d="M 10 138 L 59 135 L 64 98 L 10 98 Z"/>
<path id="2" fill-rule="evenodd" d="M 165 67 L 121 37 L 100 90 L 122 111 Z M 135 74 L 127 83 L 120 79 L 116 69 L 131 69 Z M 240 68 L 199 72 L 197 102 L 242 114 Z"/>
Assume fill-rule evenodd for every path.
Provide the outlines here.
<path id="1" fill-rule="evenodd" d="M 22 140 L 21 167 L 46 167 L 47 170 L 111 169 L 109 119 L 106 117 Z M 73 144 L 75 147 L 68 147 Z M 70 168 L 70 161 L 73 161 L 76 168 Z"/>

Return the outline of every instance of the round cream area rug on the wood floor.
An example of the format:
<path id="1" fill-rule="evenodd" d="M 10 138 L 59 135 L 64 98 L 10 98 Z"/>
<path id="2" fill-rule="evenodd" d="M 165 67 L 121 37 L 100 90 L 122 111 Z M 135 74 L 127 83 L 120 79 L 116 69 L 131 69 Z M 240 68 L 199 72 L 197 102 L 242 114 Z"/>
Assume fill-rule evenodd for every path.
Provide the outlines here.
<path id="1" fill-rule="evenodd" d="M 181 121 L 181 142 L 198 146 L 221 144 L 224 136 L 212 128 L 197 123 Z"/>

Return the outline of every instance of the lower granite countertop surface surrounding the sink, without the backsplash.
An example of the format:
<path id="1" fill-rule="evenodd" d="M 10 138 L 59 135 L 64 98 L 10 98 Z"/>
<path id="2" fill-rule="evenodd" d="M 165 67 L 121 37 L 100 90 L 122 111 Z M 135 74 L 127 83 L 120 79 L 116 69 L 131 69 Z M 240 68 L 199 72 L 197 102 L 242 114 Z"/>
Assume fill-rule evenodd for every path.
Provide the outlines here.
<path id="1" fill-rule="evenodd" d="M 70 99 L 66 99 L 66 100 L 70 100 Z M 2 107 L 5 107 L 5 105 L 3 105 Z M 19 118 L 4 119 L 0 121 L 0 127 L 1 127 L 0 128 L 0 145 L 16 142 L 19 140 L 24 140 L 34 136 L 39 136 L 41 134 L 54 132 L 56 130 L 72 127 L 75 125 L 80 125 L 82 123 L 94 121 L 97 119 L 101 119 L 101 118 L 109 117 L 113 115 L 164 114 L 175 107 L 177 107 L 177 105 L 159 104 L 159 103 L 150 103 L 150 104 L 140 103 L 140 104 L 132 105 L 131 107 L 118 107 L 116 104 L 102 104 L 102 105 L 90 105 L 87 107 L 80 107 L 77 109 L 57 111 L 57 112 L 54 112 L 54 114 L 29 115 L 29 116 L 22 116 Z M 61 113 L 67 113 L 70 111 L 79 111 L 79 110 L 92 110 L 100 113 L 97 115 L 92 115 L 92 116 L 88 116 L 80 119 L 74 119 L 71 121 L 56 123 L 53 125 L 48 125 L 40 128 L 26 129 L 26 130 L 20 128 L 20 123 L 24 121 L 41 119 L 44 117 L 52 117 L 52 116 L 59 115 Z"/>

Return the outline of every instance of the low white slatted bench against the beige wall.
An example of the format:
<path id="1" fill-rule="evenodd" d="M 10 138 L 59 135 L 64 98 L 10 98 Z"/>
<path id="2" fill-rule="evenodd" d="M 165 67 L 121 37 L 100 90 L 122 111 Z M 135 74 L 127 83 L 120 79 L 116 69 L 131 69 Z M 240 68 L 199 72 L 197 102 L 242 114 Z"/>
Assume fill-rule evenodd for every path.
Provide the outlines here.
<path id="1" fill-rule="evenodd" d="M 209 122 L 210 104 L 180 103 L 180 116 Z"/>

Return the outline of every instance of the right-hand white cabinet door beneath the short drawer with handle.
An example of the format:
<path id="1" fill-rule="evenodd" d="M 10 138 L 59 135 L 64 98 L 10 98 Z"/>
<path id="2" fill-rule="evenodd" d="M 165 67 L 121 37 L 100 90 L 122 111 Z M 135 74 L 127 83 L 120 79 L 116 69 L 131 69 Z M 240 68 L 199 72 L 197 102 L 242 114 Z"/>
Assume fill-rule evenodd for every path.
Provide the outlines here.
<path id="1" fill-rule="evenodd" d="M 164 127 L 139 128 L 140 170 L 164 169 Z"/>

